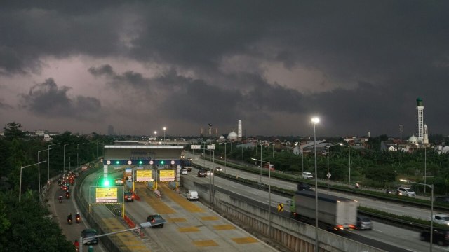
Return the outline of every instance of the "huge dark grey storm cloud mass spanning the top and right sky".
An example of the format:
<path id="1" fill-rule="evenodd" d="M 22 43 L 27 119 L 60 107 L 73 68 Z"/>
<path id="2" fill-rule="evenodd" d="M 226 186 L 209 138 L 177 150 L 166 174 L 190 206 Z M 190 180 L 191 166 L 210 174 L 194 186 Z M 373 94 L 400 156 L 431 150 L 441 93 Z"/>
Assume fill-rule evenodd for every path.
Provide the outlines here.
<path id="1" fill-rule="evenodd" d="M 11 1 L 2 7 L 0 75 L 38 72 L 47 56 L 119 57 L 171 70 L 152 78 L 133 69 L 116 73 L 110 65 L 88 71 L 114 90 L 157 95 L 152 105 L 173 118 L 321 113 L 333 132 L 388 134 L 399 123 L 414 126 L 415 99 L 422 97 L 429 128 L 447 133 L 449 118 L 441 115 L 449 92 L 449 1 Z M 257 63 L 224 71 L 232 57 Z M 267 78 L 264 69 L 279 62 L 321 73 L 324 80 L 316 83 L 329 89 Z M 192 116 L 189 108 L 201 113 Z"/>

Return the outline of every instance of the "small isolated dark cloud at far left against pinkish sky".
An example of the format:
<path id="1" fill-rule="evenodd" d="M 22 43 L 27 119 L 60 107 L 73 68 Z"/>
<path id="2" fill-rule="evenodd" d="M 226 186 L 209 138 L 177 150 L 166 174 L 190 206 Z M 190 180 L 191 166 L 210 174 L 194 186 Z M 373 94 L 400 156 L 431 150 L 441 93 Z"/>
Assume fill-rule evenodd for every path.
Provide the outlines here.
<path id="1" fill-rule="evenodd" d="M 93 97 L 67 96 L 70 87 L 58 87 L 52 78 L 22 94 L 22 107 L 44 118 L 74 118 L 92 120 L 102 118 L 101 104 Z"/>

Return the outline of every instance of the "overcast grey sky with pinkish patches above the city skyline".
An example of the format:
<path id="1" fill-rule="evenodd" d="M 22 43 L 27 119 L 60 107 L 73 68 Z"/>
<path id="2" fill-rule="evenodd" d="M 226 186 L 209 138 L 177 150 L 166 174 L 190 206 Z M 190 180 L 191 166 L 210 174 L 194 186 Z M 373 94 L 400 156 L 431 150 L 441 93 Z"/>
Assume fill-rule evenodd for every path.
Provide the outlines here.
<path id="1" fill-rule="evenodd" d="M 0 125 L 449 134 L 449 1 L 1 1 Z M 207 134 L 207 131 L 206 131 Z"/>

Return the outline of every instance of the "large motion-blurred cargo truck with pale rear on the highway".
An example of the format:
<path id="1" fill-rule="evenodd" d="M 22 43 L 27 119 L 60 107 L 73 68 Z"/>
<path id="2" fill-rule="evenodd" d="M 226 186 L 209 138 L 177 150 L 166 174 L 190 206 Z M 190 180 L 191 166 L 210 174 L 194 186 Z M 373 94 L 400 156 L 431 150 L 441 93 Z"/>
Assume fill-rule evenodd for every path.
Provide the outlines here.
<path id="1" fill-rule="evenodd" d="M 290 202 L 293 218 L 315 225 L 315 192 L 298 190 Z M 319 228 L 344 230 L 356 227 L 357 201 L 344 197 L 318 193 Z"/>

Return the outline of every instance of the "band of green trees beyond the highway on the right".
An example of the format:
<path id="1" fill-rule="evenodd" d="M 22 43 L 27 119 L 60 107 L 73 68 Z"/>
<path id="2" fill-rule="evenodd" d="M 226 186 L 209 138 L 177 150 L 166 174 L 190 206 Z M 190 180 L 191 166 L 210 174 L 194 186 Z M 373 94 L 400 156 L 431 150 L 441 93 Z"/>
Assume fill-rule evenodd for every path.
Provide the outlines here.
<path id="1" fill-rule="evenodd" d="M 385 136 L 387 138 L 387 136 Z M 362 183 L 377 188 L 394 188 L 401 185 L 399 179 L 410 179 L 434 184 L 435 193 L 445 195 L 449 190 L 449 154 L 438 154 L 434 148 L 420 148 L 411 153 L 403 151 L 380 151 L 379 138 L 368 142 L 368 146 L 379 148 L 351 148 L 351 182 Z M 335 139 L 337 140 L 337 139 Z M 372 140 L 372 139 L 370 139 Z M 386 139 L 385 139 L 386 140 Z M 335 141 L 335 143 L 342 142 Z M 227 146 L 227 158 L 254 164 L 251 158 L 260 160 L 260 146 L 256 148 L 237 148 L 232 143 Z M 219 148 L 217 154 L 225 156 L 225 148 Z M 316 167 L 318 178 L 326 179 L 328 172 L 327 149 L 317 150 Z M 425 153 L 424 153 L 425 151 Z M 273 154 L 274 153 L 274 154 Z M 215 154 L 215 155 L 217 155 Z M 314 153 L 295 155 L 286 148 L 262 147 L 262 160 L 271 162 L 276 170 L 300 174 L 303 171 L 314 172 Z M 258 165 L 258 162 L 257 162 Z M 329 171 L 334 181 L 349 181 L 349 150 L 347 146 L 333 146 L 329 149 Z M 411 187 L 411 185 L 410 185 Z M 422 186 L 413 186 L 415 190 L 424 190 Z"/>

